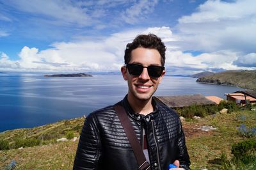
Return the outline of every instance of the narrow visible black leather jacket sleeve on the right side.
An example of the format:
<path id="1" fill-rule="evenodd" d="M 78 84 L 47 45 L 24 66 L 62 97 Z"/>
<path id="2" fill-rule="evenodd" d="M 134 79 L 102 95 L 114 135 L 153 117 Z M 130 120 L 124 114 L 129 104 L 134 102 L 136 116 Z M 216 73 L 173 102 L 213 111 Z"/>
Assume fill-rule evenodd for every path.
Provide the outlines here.
<path id="1" fill-rule="evenodd" d="M 179 120 L 179 142 L 178 142 L 178 146 L 179 146 L 179 161 L 180 161 L 180 167 L 184 168 L 184 169 L 190 169 L 190 160 L 189 160 L 189 155 L 188 155 L 188 150 L 186 147 L 186 142 L 185 142 L 185 135 L 184 132 L 182 130 L 182 125 L 181 122 Z"/>

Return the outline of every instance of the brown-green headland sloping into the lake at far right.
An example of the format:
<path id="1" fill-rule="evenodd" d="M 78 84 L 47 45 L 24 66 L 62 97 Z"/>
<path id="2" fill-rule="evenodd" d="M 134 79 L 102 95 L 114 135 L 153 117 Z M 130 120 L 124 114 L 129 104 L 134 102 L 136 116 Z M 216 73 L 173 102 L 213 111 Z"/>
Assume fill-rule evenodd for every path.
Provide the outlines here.
<path id="1" fill-rule="evenodd" d="M 196 81 L 256 90 L 256 70 L 229 70 L 206 75 Z"/>

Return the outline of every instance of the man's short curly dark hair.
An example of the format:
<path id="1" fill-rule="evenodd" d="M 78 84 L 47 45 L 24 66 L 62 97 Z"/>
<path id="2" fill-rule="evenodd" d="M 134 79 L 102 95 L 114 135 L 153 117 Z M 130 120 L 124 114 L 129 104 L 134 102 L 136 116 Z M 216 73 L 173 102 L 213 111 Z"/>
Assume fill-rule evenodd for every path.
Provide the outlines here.
<path id="1" fill-rule="evenodd" d="M 132 50 L 138 47 L 158 50 L 158 52 L 161 55 L 161 65 L 164 66 L 166 47 L 162 42 L 161 38 L 153 34 L 138 35 L 136 36 L 136 38 L 133 40 L 132 43 L 128 43 L 126 45 L 125 54 L 124 54 L 125 64 L 128 64 L 131 61 L 131 52 Z"/>

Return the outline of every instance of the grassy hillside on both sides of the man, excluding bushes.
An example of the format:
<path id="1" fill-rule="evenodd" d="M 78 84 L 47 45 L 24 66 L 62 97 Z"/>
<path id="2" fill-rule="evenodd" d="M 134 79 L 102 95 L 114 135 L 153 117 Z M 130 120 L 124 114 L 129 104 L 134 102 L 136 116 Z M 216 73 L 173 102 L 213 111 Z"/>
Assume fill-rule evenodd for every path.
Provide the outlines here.
<path id="1" fill-rule="evenodd" d="M 48 136 L 49 139 L 57 139 L 65 137 L 65 132 L 70 130 L 78 136 L 79 130 L 76 130 L 82 127 L 83 120 L 78 118 L 31 129 L 10 130 L 0 133 L 0 139 L 8 139 L 10 143 L 19 137 L 41 139 L 40 136 Z M 255 127 L 255 122 L 256 111 L 215 114 L 200 120 L 184 121 L 182 124 L 191 158 L 191 169 L 224 169 L 225 165 L 221 164 L 223 155 L 230 159 L 232 144 L 247 139 L 239 133 L 238 127 L 241 124 Z M 198 129 L 203 125 L 211 125 L 217 129 L 209 132 Z M 256 140 L 256 137 L 252 139 Z M 72 169 L 77 143 L 78 141 L 72 140 L 56 143 L 52 140 L 52 143 L 41 143 L 39 146 L 0 151 L 0 169 L 5 169 L 12 160 L 16 162 L 15 169 Z M 255 167 L 256 163 L 248 169 Z"/>

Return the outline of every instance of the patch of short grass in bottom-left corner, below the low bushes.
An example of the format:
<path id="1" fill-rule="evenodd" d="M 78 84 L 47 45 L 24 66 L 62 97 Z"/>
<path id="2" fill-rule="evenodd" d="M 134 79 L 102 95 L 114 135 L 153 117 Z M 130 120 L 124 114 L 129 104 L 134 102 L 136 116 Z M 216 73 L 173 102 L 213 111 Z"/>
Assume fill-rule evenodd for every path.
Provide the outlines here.
<path id="1" fill-rule="evenodd" d="M 15 169 L 72 169 L 77 142 L 67 141 L 45 146 L 34 146 L 22 150 L 0 152 L 0 169 L 12 160 Z"/>

